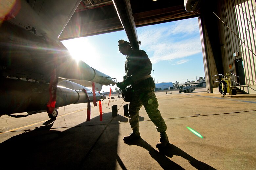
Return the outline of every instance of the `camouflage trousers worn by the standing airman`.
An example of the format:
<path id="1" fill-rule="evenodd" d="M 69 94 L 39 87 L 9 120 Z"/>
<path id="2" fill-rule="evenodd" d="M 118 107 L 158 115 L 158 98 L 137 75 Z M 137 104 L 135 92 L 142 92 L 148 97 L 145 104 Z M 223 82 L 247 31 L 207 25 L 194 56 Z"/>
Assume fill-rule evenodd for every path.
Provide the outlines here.
<path id="1" fill-rule="evenodd" d="M 154 90 L 154 88 L 144 88 L 134 91 L 128 110 L 131 117 L 129 120 L 131 128 L 139 128 L 139 110 L 143 105 L 157 131 L 160 133 L 166 131 L 167 126 L 158 110 L 158 101 Z"/>

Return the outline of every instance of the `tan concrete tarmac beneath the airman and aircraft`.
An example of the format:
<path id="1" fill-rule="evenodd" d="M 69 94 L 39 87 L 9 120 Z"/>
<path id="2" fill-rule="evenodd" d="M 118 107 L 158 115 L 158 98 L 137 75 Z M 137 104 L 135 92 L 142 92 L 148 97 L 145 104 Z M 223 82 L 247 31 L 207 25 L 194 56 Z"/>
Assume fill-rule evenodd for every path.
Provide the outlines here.
<path id="1" fill-rule="evenodd" d="M 93 103 L 90 121 L 86 121 L 86 103 L 59 108 L 55 120 L 44 113 L 19 120 L 0 117 L 1 166 L 48 170 L 256 169 L 256 94 L 222 97 L 207 93 L 206 88 L 155 94 L 167 124 L 169 144 L 164 149 L 155 147 L 160 134 L 144 107 L 139 111 L 141 139 L 123 141 L 123 136 L 132 132 L 123 109 L 129 103 L 112 95 L 114 99 L 107 96 L 102 101 L 102 121 L 99 106 Z M 113 105 L 117 105 L 117 116 L 112 116 Z"/>

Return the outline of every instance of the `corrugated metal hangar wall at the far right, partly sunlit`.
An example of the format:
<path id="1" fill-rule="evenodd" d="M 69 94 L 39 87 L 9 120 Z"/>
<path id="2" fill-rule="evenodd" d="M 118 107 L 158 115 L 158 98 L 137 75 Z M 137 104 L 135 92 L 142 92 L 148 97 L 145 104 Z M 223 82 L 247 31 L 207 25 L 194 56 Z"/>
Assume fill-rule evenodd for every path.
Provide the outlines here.
<path id="1" fill-rule="evenodd" d="M 256 24 L 253 3 L 255 0 L 219 0 L 216 12 L 216 17 L 220 18 L 218 25 L 223 44 L 221 50 L 224 72 L 237 74 L 234 61 L 242 57 L 246 85 L 256 84 Z M 240 55 L 233 57 L 235 52 Z M 229 64 L 232 69 L 229 69 Z"/>

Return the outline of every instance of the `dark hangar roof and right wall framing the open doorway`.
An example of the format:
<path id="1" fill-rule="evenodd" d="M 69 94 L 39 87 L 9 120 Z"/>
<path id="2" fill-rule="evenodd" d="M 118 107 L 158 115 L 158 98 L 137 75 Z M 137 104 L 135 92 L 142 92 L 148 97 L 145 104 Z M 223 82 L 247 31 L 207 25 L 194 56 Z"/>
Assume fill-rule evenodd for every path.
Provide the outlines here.
<path id="1" fill-rule="evenodd" d="M 252 94 L 256 93 L 255 8 L 255 0 L 82 0 L 59 39 L 124 29 L 133 49 L 139 49 L 136 27 L 197 17 L 207 93 L 218 87 L 216 75 L 229 72 L 233 86 L 241 85 Z"/>

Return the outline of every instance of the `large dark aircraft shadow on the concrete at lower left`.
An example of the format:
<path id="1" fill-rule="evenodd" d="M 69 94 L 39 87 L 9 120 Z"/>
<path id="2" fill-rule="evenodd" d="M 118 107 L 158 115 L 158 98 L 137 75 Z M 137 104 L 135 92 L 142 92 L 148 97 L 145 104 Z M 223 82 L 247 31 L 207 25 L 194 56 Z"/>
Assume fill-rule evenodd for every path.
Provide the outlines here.
<path id="1" fill-rule="evenodd" d="M 108 117 L 111 114 L 106 113 Z M 107 124 L 90 125 L 98 120 L 99 116 L 65 131 L 51 129 L 54 122 L 48 120 L 34 130 L 2 142 L 1 164 L 9 169 L 101 169 L 102 166 L 115 169 L 119 126 L 114 124 L 114 130 L 107 128 L 113 118 Z M 111 142 L 104 139 L 109 133 Z M 98 157 L 92 160 L 93 148 L 99 140 L 105 149 L 97 152 Z"/>

